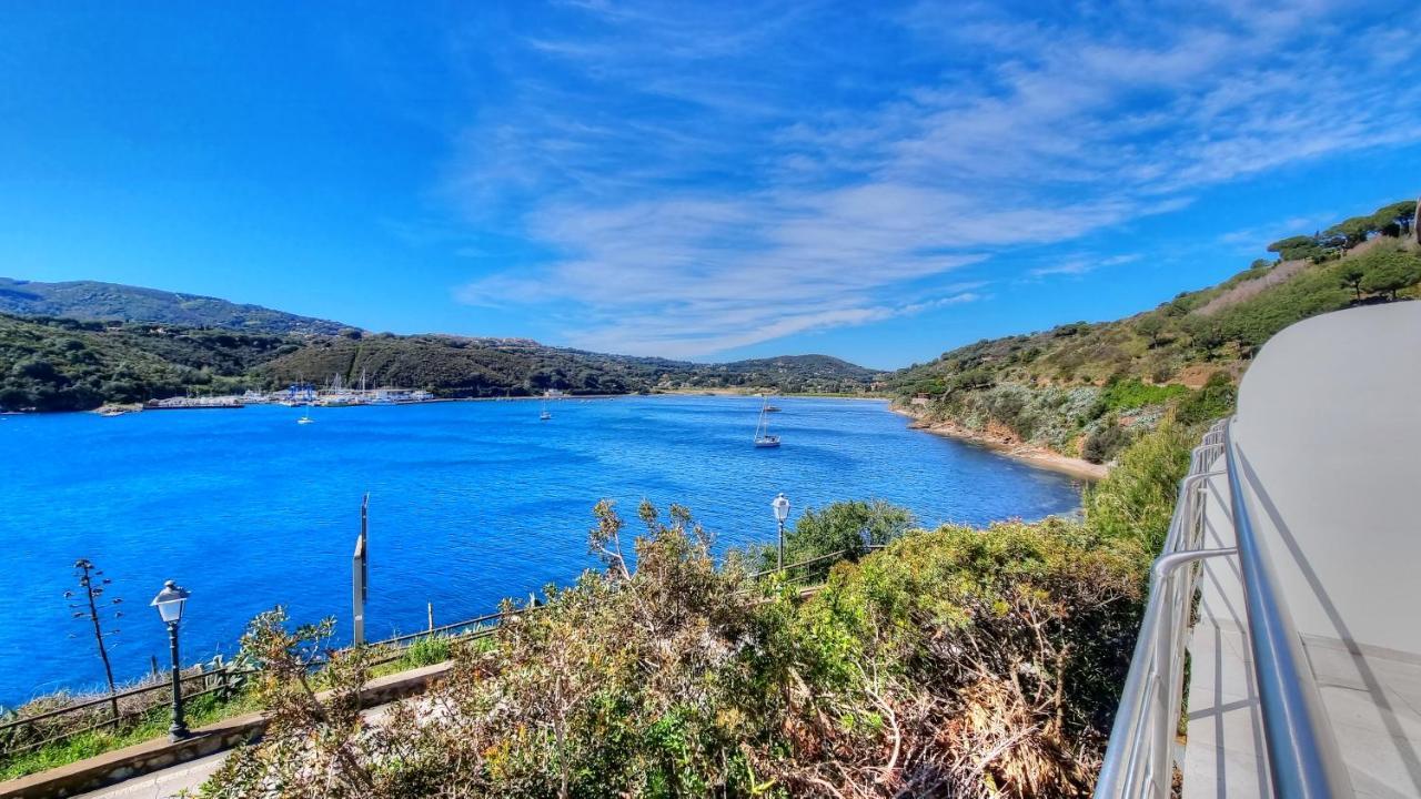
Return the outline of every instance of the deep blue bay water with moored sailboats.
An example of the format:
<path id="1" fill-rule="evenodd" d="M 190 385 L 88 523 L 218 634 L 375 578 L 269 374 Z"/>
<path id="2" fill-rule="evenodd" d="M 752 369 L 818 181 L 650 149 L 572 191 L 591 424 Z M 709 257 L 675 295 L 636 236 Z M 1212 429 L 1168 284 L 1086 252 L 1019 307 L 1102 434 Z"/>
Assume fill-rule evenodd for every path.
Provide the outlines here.
<path id="1" fill-rule="evenodd" d="M 921 522 L 1034 519 L 1073 510 L 1080 486 L 978 446 L 912 431 L 885 404 L 777 401 L 780 449 L 750 445 L 759 400 L 628 397 L 539 404 L 162 411 L 0 421 L 0 704 L 102 680 L 87 621 L 64 591 L 88 557 L 122 597 L 119 678 L 166 658 L 148 601 L 192 591 L 185 661 L 230 654 L 274 604 L 350 631 L 351 552 L 369 492 L 367 636 L 493 610 L 595 566 L 590 510 L 679 502 L 718 549 L 774 539 L 793 515 L 880 498 Z"/>

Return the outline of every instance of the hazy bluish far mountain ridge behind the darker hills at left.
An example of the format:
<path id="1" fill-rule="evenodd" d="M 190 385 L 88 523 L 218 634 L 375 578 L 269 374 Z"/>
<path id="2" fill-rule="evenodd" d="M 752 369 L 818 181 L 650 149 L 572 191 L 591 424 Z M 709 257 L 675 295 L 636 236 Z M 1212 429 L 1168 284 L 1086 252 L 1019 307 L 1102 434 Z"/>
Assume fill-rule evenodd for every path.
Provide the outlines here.
<path id="1" fill-rule="evenodd" d="M 334 336 L 345 328 L 334 321 L 274 311 L 261 306 L 94 280 L 41 283 L 0 277 L 0 311 L 81 320 L 227 327 L 247 333 Z"/>

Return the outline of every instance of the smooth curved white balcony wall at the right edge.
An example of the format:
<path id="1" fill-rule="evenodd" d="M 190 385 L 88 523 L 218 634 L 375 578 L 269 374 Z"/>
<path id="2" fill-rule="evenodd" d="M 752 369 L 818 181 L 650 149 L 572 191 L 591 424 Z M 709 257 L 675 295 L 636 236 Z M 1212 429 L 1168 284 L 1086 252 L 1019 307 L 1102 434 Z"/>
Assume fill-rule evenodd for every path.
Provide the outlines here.
<path id="1" fill-rule="evenodd" d="M 1297 631 L 1421 654 L 1421 301 L 1273 337 L 1233 435 Z"/>

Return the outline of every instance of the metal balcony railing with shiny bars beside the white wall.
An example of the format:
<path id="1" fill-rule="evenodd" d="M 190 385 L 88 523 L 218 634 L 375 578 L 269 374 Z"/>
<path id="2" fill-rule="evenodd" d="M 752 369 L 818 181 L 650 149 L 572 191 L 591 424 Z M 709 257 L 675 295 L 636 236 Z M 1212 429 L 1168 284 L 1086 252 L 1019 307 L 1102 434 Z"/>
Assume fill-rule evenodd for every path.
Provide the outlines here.
<path id="1" fill-rule="evenodd" d="M 1221 459 L 1223 469 L 1215 469 Z M 1204 492 L 1209 478 L 1216 476 L 1228 478 L 1236 547 L 1204 549 L 1208 505 Z M 1302 655 L 1302 641 L 1253 533 L 1243 496 L 1231 424 L 1221 421 L 1191 455 L 1164 552 L 1150 573 L 1150 599 L 1096 783 L 1096 799 L 1171 796 L 1198 564 L 1225 556 L 1236 556 L 1242 569 L 1273 795 L 1287 799 L 1353 795 L 1312 671 Z M 1219 790 L 1222 795 L 1223 786 Z"/>

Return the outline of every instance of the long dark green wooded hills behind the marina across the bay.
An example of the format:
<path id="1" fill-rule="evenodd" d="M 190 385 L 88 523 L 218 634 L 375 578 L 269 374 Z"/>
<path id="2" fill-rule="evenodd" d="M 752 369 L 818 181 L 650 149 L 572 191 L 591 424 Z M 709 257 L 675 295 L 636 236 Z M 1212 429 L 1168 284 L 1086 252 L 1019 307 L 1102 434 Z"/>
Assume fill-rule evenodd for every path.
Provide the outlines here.
<path id="1" fill-rule="evenodd" d="M 0 314 L 0 409 L 77 411 L 189 392 L 361 377 L 442 397 L 735 388 L 864 392 L 880 375 L 827 355 L 729 364 L 604 355 L 526 338 L 261 334 L 219 327 Z"/>

